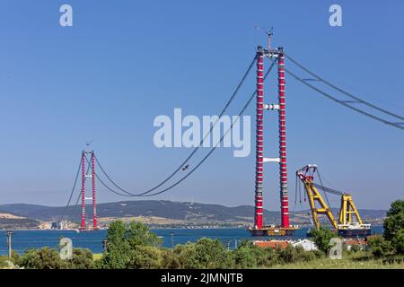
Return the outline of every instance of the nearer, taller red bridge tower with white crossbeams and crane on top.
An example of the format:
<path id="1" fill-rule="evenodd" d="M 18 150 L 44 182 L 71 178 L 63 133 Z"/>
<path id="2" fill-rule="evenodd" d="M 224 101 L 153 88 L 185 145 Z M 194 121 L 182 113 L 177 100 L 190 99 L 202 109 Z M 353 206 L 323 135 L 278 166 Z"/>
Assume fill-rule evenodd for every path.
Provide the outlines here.
<path id="1" fill-rule="evenodd" d="M 286 113 L 285 113 L 285 53 L 283 48 L 270 48 L 268 32 L 268 48 L 257 48 L 257 107 L 256 107 L 256 164 L 255 164 L 255 214 L 254 226 L 250 227 L 251 235 L 290 235 L 297 226 L 290 225 L 289 204 L 287 197 L 286 169 Z M 264 58 L 277 61 L 277 104 L 264 102 Z M 279 133 L 279 156 L 264 157 L 264 110 L 277 110 Z M 263 171 L 264 163 L 276 162 L 279 165 L 279 187 L 281 205 L 281 225 L 264 225 L 263 222 Z"/>

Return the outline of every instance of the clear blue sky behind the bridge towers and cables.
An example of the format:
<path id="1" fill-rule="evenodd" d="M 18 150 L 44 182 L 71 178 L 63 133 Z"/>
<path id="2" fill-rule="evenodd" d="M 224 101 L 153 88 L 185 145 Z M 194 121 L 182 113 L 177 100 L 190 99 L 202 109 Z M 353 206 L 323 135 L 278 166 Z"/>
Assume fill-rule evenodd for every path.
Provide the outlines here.
<path id="1" fill-rule="evenodd" d="M 62 4 L 73 6 L 73 27 L 59 25 Z M 329 26 L 330 4 L 342 6 L 342 27 Z M 392 0 L 1 0 L 0 204 L 66 204 L 91 139 L 122 186 L 154 186 L 190 152 L 154 147 L 154 117 L 172 116 L 174 108 L 216 115 L 266 42 L 255 25 L 274 26 L 274 45 L 330 82 L 402 115 L 403 12 L 403 2 Z M 265 87 L 268 101 L 276 99 L 274 81 Z M 286 81 L 291 209 L 294 171 L 307 163 L 319 165 L 330 187 L 351 192 L 359 208 L 388 208 L 402 199 L 404 133 Z M 253 90 L 251 74 L 228 114 L 236 115 Z M 266 155 L 275 156 L 275 115 L 265 128 Z M 219 149 L 155 198 L 253 204 L 253 176 L 253 153 L 233 158 L 232 149 Z M 98 198 L 125 199 L 103 188 Z M 278 209 L 275 165 L 265 169 L 264 201 Z"/>

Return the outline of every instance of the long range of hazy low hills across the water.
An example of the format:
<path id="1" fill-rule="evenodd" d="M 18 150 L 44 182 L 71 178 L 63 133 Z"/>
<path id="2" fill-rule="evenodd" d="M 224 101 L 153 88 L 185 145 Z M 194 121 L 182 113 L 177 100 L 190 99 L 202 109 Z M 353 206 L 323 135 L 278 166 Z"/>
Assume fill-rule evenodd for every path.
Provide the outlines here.
<path id="1" fill-rule="evenodd" d="M 98 204 L 99 217 L 120 218 L 135 216 L 154 216 L 185 222 L 252 222 L 254 207 L 241 205 L 226 207 L 219 204 L 198 204 L 187 202 L 172 202 L 162 200 L 123 201 L 117 203 Z M 90 205 L 87 214 L 92 213 Z M 40 221 L 57 221 L 65 212 L 65 207 L 49 207 L 35 204 L 3 204 L 0 205 L 0 213 L 11 213 L 16 216 L 32 218 Z M 338 211 L 334 211 L 338 213 Z M 365 220 L 382 219 L 386 211 L 383 210 L 359 210 Z M 78 221 L 80 207 L 68 208 L 66 218 Z M 308 211 L 291 212 L 292 222 L 298 224 L 310 223 Z M 280 212 L 264 210 L 266 222 L 279 223 Z"/>

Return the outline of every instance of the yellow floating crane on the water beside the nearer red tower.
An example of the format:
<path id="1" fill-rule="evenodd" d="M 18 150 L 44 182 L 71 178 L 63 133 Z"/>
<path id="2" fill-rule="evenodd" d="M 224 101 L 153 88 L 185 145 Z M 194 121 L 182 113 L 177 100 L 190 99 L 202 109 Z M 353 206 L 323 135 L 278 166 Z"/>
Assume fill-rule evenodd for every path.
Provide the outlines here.
<path id="1" fill-rule="evenodd" d="M 315 164 L 309 164 L 302 169 L 296 171 L 296 177 L 303 182 L 304 189 L 309 199 L 310 208 L 312 210 L 312 221 L 315 228 L 320 228 L 319 214 L 325 214 L 329 219 L 334 230 L 344 237 L 367 236 L 371 234 L 371 225 L 364 224 L 361 216 L 359 215 L 352 196 L 313 182 L 314 174 L 317 172 L 320 178 L 320 173 Z M 338 222 L 335 220 L 329 204 L 327 204 L 319 192 L 321 189 L 324 193 L 330 193 L 341 196 L 341 204 L 339 208 Z M 326 196 L 327 198 L 327 196 Z M 353 216 L 354 215 L 354 216 Z M 354 221 L 354 218 L 356 221 Z"/>

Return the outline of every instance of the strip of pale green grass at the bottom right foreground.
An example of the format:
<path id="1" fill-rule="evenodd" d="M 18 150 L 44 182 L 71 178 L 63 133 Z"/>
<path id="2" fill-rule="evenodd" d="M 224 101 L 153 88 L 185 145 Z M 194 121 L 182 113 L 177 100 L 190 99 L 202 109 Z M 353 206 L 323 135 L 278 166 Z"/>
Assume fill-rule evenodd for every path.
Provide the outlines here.
<path id="1" fill-rule="evenodd" d="M 321 258 L 310 262 L 274 265 L 275 269 L 404 269 L 404 261 L 386 263 L 364 252 L 345 254 L 342 259 Z"/>

